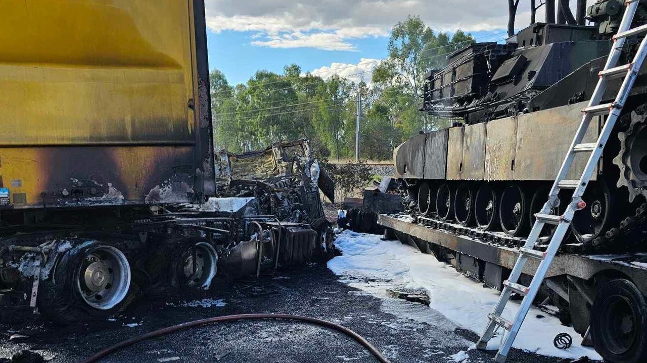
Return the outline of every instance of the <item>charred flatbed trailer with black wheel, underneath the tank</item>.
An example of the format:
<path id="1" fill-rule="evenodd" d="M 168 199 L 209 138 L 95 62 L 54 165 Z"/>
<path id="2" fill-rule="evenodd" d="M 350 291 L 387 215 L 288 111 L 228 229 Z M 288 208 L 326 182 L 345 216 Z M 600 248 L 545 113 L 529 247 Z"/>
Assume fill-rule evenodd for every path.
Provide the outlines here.
<path id="1" fill-rule="evenodd" d="M 385 238 L 397 238 L 422 253 L 433 253 L 486 286 L 503 289 L 521 244 L 499 238 L 496 233 L 461 229 L 429 219 L 378 214 L 377 223 L 386 227 Z M 522 279 L 531 279 L 536 263 L 531 260 L 525 266 Z M 543 284 L 545 288 L 534 303 L 556 307 L 562 323 L 572 324 L 582 335 L 582 345 L 604 352 L 609 362 L 645 361 L 647 253 L 558 253 Z M 626 342 L 624 353 L 609 355 L 605 349 L 618 342 Z"/>

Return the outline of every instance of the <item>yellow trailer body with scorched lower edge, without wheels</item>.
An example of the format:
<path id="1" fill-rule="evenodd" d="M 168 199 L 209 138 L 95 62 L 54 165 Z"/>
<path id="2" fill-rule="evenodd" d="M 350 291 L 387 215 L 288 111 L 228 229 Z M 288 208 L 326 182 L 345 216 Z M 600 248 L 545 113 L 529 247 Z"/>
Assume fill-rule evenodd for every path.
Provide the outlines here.
<path id="1" fill-rule="evenodd" d="M 14 208 L 213 193 L 193 1 L 3 1 L 0 12 L 0 187 Z"/>

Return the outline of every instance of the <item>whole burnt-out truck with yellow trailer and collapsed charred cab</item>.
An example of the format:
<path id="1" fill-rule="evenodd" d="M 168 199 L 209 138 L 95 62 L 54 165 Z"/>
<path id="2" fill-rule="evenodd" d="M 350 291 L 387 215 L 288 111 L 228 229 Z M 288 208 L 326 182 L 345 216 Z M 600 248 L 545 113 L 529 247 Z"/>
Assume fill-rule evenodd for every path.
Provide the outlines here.
<path id="1" fill-rule="evenodd" d="M 204 1 L 119 4 L 6 9 L 17 24 L 42 23 L 38 32 L 56 36 L 47 47 L 38 32 L 16 36 L 42 46 L 17 54 L 21 65 L 0 56 L 0 69 L 19 68 L 2 72 L 3 90 L 20 89 L 3 92 L 0 105 L 2 321 L 35 307 L 47 320 L 87 322 L 137 298 L 206 289 L 216 275 L 333 253 L 318 186 L 334 187 L 306 140 L 214 152 Z M 148 20 L 153 13 L 159 21 Z M 71 35 L 114 23 L 124 30 Z M 27 78 L 5 82 L 12 73 Z M 253 171 L 248 162 L 261 155 L 262 171 Z"/>

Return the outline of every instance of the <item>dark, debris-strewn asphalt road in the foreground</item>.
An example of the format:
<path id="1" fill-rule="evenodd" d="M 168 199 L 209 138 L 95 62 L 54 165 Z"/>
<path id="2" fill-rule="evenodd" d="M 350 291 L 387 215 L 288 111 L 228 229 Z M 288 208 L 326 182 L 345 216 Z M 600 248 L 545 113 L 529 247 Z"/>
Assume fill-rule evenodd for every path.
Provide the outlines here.
<path id="1" fill-rule="evenodd" d="M 200 302 L 198 304 L 197 302 Z M 224 305 L 224 306 L 223 306 Z M 241 313 L 314 316 L 355 330 L 391 362 L 492 362 L 494 351 L 468 347 L 477 336 L 428 307 L 381 299 L 353 289 L 325 266 L 281 270 L 259 280 L 218 280 L 187 300 L 139 302 L 123 315 L 79 327 L 45 324 L 36 315 L 21 326 L 0 326 L 0 358 L 22 349 L 51 362 L 80 362 L 121 340 L 181 322 Z M 430 323 L 429 317 L 435 316 Z M 559 362 L 512 350 L 509 362 Z M 142 342 L 101 362 L 376 362 L 359 344 L 324 327 L 250 321 L 197 327 Z"/>

